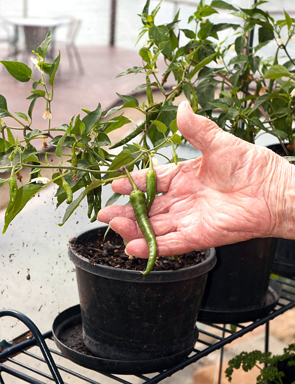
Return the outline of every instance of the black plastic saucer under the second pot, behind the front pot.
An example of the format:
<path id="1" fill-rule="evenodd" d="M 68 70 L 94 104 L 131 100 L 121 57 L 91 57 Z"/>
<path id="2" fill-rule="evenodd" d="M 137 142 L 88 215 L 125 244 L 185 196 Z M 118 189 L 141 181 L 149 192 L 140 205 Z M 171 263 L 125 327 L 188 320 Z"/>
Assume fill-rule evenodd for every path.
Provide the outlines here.
<path id="1" fill-rule="evenodd" d="M 208 308 L 200 308 L 197 315 L 197 321 L 216 324 L 246 323 L 255 321 L 268 315 L 276 306 L 281 295 L 281 287 L 274 280 L 270 279 L 266 300 L 263 306 L 244 309 L 238 311 L 220 311 Z"/>

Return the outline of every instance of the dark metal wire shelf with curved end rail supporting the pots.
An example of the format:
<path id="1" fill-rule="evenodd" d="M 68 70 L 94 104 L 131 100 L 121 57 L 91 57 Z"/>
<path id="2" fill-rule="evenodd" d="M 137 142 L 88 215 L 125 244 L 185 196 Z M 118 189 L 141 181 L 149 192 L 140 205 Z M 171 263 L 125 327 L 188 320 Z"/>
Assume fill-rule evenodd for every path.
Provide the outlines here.
<path id="1" fill-rule="evenodd" d="M 197 323 L 199 338 L 193 352 L 180 364 L 177 364 L 162 372 L 138 375 L 114 375 L 104 372 L 96 372 L 82 368 L 62 356 L 57 350 L 52 339 L 52 332 L 43 335 L 35 324 L 25 315 L 17 311 L 2 310 L 0 317 L 13 316 L 22 321 L 30 332 L 20 335 L 14 342 L 1 342 L 0 349 L 0 384 L 4 384 L 3 373 L 14 376 L 26 383 L 32 384 L 71 384 L 91 383 L 102 384 L 101 380 L 108 378 L 109 383 L 122 384 L 155 384 L 184 367 L 197 362 L 204 356 L 222 348 L 258 326 L 267 324 L 276 316 L 288 309 L 295 307 L 295 280 L 278 278 L 282 285 L 282 295 L 275 309 L 261 319 L 247 323 L 235 324 L 236 331 L 225 325 Z M 34 336 L 34 337 L 33 337 Z M 266 348 L 268 345 L 268 326 L 266 327 Z M 46 343 L 45 343 L 46 340 Z M 47 346 L 48 345 L 48 346 Z M 30 349 L 30 350 L 28 350 Z M 54 356 L 54 359 L 53 357 Z M 79 372 L 77 372 L 79 370 Z M 46 380 L 46 381 L 44 381 Z"/>

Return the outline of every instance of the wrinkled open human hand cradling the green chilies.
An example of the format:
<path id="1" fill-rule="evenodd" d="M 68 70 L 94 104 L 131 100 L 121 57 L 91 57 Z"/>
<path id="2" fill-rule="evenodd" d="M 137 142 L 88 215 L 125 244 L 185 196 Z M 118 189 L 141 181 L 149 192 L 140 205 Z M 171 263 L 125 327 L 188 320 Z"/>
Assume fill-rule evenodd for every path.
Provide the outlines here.
<path id="1" fill-rule="evenodd" d="M 224 132 L 180 103 L 178 129 L 202 156 L 155 167 L 157 196 L 149 212 L 158 255 L 182 254 L 254 237 L 294 236 L 295 172 L 286 159 Z M 145 191 L 147 170 L 132 172 Z M 132 191 L 128 179 L 113 181 L 115 192 Z M 290 201 L 290 202 L 289 202 Z M 109 206 L 98 220 L 110 223 L 128 243 L 126 253 L 148 257 L 133 209 Z"/>

